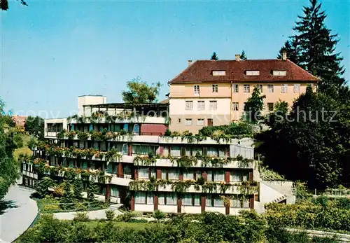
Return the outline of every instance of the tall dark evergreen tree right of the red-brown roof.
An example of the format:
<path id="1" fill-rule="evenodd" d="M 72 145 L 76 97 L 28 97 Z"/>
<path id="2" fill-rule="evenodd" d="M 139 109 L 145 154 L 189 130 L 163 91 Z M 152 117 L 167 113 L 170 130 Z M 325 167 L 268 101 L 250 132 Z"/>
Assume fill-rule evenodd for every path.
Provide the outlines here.
<path id="1" fill-rule="evenodd" d="M 340 64 L 342 57 L 335 53 L 339 41 L 337 34 L 331 34 L 331 30 L 325 26 L 327 15 L 321 11 L 317 0 L 310 0 L 310 6 L 304 7 L 303 12 L 304 15 L 298 16 L 299 20 L 295 22 L 295 36 L 281 50 L 289 48 L 291 53 L 296 53 L 295 63 L 322 79 L 321 92 L 337 95 L 345 83 L 342 78 L 344 68 Z"/>

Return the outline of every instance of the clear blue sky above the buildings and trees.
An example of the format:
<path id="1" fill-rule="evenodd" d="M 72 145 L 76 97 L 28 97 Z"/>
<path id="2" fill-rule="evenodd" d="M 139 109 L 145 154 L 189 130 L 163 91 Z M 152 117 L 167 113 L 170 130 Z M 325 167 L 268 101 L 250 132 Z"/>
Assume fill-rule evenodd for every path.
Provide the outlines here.
<path id="1" fill-rule="evenodd" d="M 78 95 L 121 102 L 127 81 L 162 83 L 188 60 L 275 58 L 302 1 L 10 1 L 1 12 L 0 96 L 14 113 L 67 116 Z M 350 79 L 350 1 L 322 1 Z M 41 113 L 42 115 L 44 113 Z M 44 115 L 43 115 L 44 116 Z"/>

